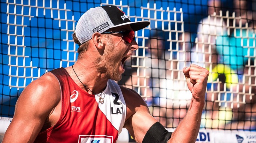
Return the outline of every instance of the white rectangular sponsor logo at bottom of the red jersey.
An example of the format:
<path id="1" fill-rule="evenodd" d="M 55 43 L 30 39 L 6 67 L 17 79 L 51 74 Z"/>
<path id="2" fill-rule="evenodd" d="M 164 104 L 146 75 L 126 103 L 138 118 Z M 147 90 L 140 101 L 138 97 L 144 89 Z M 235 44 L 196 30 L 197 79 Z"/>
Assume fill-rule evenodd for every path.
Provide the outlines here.
<path id="1" fill-rule="evenodd" d="M 113 143 L 113 136 L 79 135 L 78 143 Z"/>

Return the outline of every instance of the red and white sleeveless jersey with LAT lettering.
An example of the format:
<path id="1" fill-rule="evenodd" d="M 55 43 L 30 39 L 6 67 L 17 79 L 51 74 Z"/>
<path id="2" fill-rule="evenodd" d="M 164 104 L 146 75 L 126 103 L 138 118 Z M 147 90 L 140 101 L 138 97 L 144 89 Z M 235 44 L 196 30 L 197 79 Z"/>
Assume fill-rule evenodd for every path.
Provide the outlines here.
<path id="1" fill-rule="evenodd" d="M 60 83 L 60 119 L 40 132 L 35 142 L 115 143 L 126 117 L 124 97 L 116 82 L 109 79 L 103 93 L 92 95 L 78 87 L 64 68 L 51 73 Z"/>

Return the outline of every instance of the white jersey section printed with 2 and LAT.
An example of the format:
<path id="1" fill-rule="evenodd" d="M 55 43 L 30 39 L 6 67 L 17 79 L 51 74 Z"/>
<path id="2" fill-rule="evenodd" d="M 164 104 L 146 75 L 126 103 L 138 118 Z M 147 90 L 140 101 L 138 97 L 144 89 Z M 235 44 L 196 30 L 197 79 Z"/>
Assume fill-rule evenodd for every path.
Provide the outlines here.
<path id="1" fill-rule="evenodd" d="M 100 97 L 104 102 L 100 103 Z M 118 84 L 109 79 L 108 85 L 103 93 L 95 95 L 98 106 L 111 124 L 121 133 L 126 117 L 126 105 L 124 96 Z"/>

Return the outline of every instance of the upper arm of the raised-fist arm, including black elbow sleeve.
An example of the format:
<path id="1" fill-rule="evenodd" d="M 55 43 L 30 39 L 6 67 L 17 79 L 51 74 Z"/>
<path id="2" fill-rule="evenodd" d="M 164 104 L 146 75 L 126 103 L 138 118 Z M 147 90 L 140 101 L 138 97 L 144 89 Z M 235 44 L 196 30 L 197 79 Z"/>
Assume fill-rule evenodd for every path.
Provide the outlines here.
<path id="1" fill-rule="evenodd" d="M 148 106 L 142 97 L 132 89 L 121 87 L 127 107 L 124 128 L 139 143 L 167 142 L 171 138 L 162 124 L 150 115 Z"/>

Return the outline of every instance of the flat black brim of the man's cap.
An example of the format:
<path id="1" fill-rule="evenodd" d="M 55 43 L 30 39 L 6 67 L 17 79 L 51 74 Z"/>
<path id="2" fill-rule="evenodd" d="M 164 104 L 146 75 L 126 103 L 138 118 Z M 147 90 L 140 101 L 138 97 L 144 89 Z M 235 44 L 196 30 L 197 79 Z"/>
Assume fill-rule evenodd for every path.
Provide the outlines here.
<path id="1" fill-rule="evenodd" d="M 124 26 L 124 25 L 130 25 L 132 27 L 133 31 L 138 31 L 140 29 L 147 27 L 149 24 L 150 24 L 150 22 L 148 20 L 144 20 L 144 21 L 126 22 L 126 23 L 118 24 L 116 26 L 111 26 L 111 28 L 118 27 L 118 26 Z"/>

